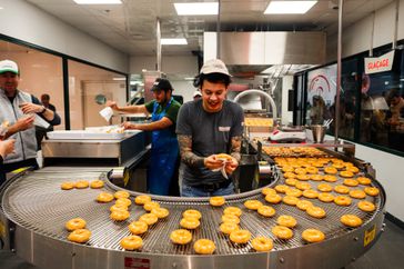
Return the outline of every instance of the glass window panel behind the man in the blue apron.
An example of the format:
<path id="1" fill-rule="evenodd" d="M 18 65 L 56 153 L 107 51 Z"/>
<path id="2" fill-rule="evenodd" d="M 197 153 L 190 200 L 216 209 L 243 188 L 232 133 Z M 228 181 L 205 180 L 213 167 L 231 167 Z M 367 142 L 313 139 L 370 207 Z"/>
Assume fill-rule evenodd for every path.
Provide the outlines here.
<path id="1" fill-rule="evenodd" d="M 73 60 L 69 60 L 68 64 L 71 129 L 119 124 L 119 114 L 115 113 L 111 121 L 107 122 L 99 112 L 105 107 L 105 100 L 117 101 L 119 107 L 125 106 L 127 78 Z"/>

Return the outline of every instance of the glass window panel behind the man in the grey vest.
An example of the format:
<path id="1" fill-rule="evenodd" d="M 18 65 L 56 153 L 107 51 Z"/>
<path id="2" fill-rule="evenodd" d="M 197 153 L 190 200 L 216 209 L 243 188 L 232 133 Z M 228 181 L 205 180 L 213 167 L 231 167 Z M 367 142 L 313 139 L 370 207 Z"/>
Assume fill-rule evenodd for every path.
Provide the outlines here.
<path id="1" fill-rule="evenodd" d="M 61 117 L 61 124 L 55 130 L 64 130 L 64 100 L 62 58 L 41 52 L 29 47 L 0 40 L 1 58 L 16 61 L 20 69 L 18 88 L 39 100 L 47 93 Z"/>

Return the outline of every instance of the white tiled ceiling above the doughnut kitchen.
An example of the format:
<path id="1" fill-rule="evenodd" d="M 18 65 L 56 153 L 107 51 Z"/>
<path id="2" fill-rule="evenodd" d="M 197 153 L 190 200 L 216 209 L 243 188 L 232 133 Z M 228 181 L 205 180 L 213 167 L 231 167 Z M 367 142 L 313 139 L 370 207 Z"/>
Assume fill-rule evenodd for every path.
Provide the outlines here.
<path id="1" fill-rule="evenodd" d="M 164 56 L 203 50 L 204 31 L 216 31 L 216 16 L 176 16 L 184 0 L 122 0 L 123 4 L 81 6 L 73 0 L 27 0 L 129 56 L 154 56 L 156 20 L 162 38 L 186 38 L 188 46 L 164 46 Z M 198 1 L 198 0 L 195 0 Z M 215 1 L 215 0 L 206 0 Z M 345 0 L 343 26 L 350 26 L 393 0 Z M 203 2 L 203 1 L 199 1 Z M 222 31 L 337 31 L 337 0 L 320 0 L 306 14 L 263 14 L 270 0 L 221 0 Z"/>

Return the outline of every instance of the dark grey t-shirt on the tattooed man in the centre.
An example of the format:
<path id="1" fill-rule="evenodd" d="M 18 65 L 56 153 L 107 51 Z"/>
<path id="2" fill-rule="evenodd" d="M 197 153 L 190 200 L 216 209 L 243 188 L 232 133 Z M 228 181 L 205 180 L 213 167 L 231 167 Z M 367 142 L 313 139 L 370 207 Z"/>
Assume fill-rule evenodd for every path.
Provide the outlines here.
<path id="1" fill-rule="evenodd" d="M 176 133 L 192 137 L 192 152 L 200 157 L 216 153 L 230 153 L 232 137 L 243 132 L 243 109 L 240 104 L 224 100 L 219 112 L 206 112 L 202 100 L 184 103 L 176 119 Z M 226 180 L 222 173 L 208 168 L 184 166 L 183 182 L 198 186 L 208 182 Z"/>

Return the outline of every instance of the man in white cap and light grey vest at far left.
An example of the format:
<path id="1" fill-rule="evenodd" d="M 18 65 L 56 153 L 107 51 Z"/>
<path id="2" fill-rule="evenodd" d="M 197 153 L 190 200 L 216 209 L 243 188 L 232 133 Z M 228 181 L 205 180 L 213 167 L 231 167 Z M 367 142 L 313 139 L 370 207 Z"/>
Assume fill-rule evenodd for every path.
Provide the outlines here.
<path id="1" fill-rule="evenodd" d="M 8 126 L 2 139 L 16 139 L 16 150 L 6 157 L 0 171 L 0 185 L 7 172 L 22 167 L 38 169 L 34 114 L 51 126 L 60 124 L 60 117 L 55 112 L 43 107 L 37 97 L 18 89 L 19 82 L 17 62 L 0 61 L 0 122 Z"/>

